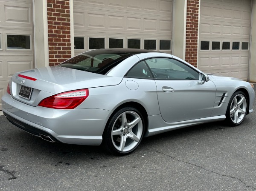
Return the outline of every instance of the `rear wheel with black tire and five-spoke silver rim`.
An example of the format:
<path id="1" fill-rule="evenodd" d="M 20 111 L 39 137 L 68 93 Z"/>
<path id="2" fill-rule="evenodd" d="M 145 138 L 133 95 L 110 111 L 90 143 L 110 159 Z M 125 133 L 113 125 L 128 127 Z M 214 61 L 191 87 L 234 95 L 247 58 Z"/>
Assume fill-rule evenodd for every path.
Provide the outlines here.
<path id="1" fill-rule="evenodd" d="M 140 144 L 144 131 L 145 122 L 140 111 L 133 107 L 121 108 L 108 120 L 102 146 L 111 154 L 130 154 Z"/>

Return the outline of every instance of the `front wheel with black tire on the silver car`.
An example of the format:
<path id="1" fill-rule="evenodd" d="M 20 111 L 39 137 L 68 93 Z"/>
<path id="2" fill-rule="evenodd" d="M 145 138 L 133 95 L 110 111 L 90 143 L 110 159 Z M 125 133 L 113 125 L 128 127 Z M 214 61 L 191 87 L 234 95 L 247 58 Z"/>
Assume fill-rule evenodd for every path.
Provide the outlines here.
<path id="1" fill-rule="evenodd" d="M 242 91 L 236 91 L 230 98 L 226 111 L 227 125 L 240 125 L 247 114 L 247 97 Z"/>

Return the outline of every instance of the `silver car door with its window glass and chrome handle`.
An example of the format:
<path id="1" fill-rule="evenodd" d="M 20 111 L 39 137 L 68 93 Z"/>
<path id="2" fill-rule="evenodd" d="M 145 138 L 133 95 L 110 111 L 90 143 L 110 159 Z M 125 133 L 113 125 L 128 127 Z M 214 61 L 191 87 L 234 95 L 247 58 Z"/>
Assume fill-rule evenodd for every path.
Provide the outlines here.
<path id="1" fill-rule="evenodd" d="M 212 81 L 202 84 L 198 71 L 172 58 L 145 63 L 154 75 L 163 120 L 173 123 L 211 116 L 216 92 Z"/>

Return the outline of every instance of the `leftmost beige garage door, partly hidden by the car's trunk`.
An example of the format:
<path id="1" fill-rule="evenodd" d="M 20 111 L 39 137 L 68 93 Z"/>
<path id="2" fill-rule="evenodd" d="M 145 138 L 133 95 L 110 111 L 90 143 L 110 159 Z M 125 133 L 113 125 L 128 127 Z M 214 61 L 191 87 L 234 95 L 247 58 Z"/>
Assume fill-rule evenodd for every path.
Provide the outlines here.
<path id="1" fill-rule="evenodd" d="M 12 75 L 33 67 L 31 0 L 0 1 L 0 110 L 1 97 Z"/>

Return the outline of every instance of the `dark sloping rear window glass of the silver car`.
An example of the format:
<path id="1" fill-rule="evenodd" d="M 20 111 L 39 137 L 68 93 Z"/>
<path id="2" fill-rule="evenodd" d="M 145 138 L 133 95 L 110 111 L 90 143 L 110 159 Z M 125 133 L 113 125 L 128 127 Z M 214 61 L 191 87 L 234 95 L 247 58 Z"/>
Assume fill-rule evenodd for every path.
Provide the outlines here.
<path id="1" fill-rule="evenodd" d="M 93 50 L 70 58 L 59 64 L 59 66 L 97 74 L 106 74 L 111 68 L 131 55 L 132 54 L 111 50 Z"/>

